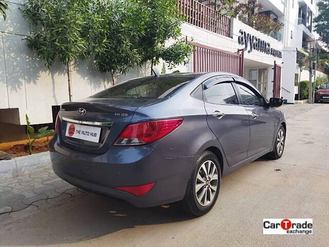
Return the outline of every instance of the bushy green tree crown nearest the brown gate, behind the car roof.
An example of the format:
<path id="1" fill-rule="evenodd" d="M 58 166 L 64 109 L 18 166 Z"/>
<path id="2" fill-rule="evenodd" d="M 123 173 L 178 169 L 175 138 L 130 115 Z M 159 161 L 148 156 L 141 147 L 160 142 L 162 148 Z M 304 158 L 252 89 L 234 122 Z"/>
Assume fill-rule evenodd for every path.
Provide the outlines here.
<path id="1" fill-rule="evenodd" d="M 89 46 L 101 72 L 125 74 L 135 65 L 163 59 L 170 68 L 187 64 L 193 47 L 180 39 L 176 0 L 94 0 Z M 166 47 L 168 40 L 173 44 Z"/>

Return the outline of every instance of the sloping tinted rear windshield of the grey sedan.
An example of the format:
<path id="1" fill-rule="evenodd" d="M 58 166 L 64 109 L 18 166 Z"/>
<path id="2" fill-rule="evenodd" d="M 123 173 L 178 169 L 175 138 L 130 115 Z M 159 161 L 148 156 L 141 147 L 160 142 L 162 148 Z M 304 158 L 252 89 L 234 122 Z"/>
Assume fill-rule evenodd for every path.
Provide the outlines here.
<path id="1" fill-rule="evenodd" d="M 114 99 L 162 99 L 181 89 L 190 77 L 139 78 L 106 89 L 93 98 Z"/>

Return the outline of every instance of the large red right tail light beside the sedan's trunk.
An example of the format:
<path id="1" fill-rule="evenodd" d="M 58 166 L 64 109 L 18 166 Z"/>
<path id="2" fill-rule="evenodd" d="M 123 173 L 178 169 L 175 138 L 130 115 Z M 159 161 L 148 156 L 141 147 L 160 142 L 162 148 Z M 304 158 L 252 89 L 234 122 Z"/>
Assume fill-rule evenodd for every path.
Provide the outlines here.
<path id="1" fill-rule="evenodd" d="M 181 125 L 183 119 L 156 120 L 127 125 L 114 143 L 115 146 L 133 146 L 153 143 Z"/>

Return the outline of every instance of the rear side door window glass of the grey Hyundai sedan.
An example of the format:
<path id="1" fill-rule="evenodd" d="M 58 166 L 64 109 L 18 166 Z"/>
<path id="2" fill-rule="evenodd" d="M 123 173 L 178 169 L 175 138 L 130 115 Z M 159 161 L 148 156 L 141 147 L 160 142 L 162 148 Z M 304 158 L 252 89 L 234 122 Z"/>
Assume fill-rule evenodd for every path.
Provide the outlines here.
<path id="1" fill-rule="evenodd" d="M 207 83 L 209 85 L 209 83 Z M 211 83 L 210 83 L 211 84 Z M 233 86 L 230 82 L 205 85 L 205 101 L 213 104 L 239 104 Z"/>

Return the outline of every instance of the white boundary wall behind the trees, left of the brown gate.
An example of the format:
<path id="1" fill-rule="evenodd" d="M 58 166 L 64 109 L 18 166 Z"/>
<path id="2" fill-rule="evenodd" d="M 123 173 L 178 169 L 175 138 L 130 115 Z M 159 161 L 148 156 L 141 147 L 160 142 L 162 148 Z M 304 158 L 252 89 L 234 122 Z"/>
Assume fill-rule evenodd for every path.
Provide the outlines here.
<path id="1" fill-rule="evenodd" d="M 68 101 L 66 68 L 56 62 L 50 69 L 29 50 L 24 37 L 30 32 L 19 8 L 23 0 L 9 4 L 7 20 L 0 22 L 0 109 L 19 109 L 19 117 L 1 117 L 3 122 L 25 125 L 25 114 L 32 124 L 52 122 L 52 105 Z M 158 66 L 161 71 L 162 64 Z M 188 66 L 179 66 L 181 72 Z M 79 100 L 112 85 L 111 75 L 98 72 L 90 62 L 71 64 L 72 99 Z M 126 75 L 117 75 L 117 82 L 150 75 L 150 67 L 136 66 Z M 170 70 L 167 69 L 169 73 Z M 0 114 L 5 114 L 4 112 Z"/>

